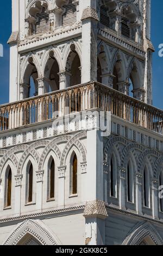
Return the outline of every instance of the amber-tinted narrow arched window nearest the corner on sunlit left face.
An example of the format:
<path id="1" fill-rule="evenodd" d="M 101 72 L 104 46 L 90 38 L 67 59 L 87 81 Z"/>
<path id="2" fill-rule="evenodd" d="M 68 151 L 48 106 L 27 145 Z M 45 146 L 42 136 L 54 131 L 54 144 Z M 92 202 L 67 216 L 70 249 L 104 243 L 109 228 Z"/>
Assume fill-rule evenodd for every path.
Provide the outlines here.
<path id="1" fill-rule="evenodd" d="M 75 153 L 71 161 L 70 192 L 72 195 L 78 193 L 78 160 Z"/>

